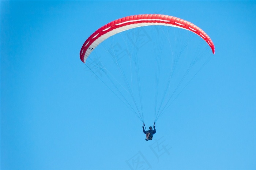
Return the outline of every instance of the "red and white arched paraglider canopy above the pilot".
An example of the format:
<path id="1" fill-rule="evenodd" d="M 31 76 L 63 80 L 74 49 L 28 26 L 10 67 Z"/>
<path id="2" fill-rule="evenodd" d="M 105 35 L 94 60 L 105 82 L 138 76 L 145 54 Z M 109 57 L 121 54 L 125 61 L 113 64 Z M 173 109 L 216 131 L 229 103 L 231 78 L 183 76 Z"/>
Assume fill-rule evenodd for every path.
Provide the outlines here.
<path id="1" fill-rule="evenodd" d="M 84 42 L 80 50 L 80 59 L 85 63 L 86 58 L 90 53 L 105 39 L 120 33 L 125 30 L 129 30 L 136 27 L 150 26 L 150 25 L 164 25 L 179 27 L 192 31 L 203 38 L 207 44 L 211 47 L 212 53 L 215 53 L 214 44 L 211 38 L 199 27 L 195 26 L 191 22 L 186 20 L 160 14 L 143 14 L 143 15 L 132 15 L 124 18 L 114 20 L 95 31 L 89 38 Z"/>

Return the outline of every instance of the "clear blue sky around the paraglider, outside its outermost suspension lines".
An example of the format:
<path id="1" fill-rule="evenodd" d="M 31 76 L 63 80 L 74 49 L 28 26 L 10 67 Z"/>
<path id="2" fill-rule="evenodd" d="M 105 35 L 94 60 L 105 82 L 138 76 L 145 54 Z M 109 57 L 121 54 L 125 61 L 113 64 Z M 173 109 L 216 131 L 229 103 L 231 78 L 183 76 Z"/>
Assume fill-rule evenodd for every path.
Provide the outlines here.
<path id="1" fill-rule="evenodd" d="M 1 1 L 1 169 L 256 169 L 255 9 L 255 1 Z M 104 24 L 155 13 L 196 24 L 216 53 L 146 141 L 79 52 Z M 148 128 L 154 118 L 144 116 Z"/>

